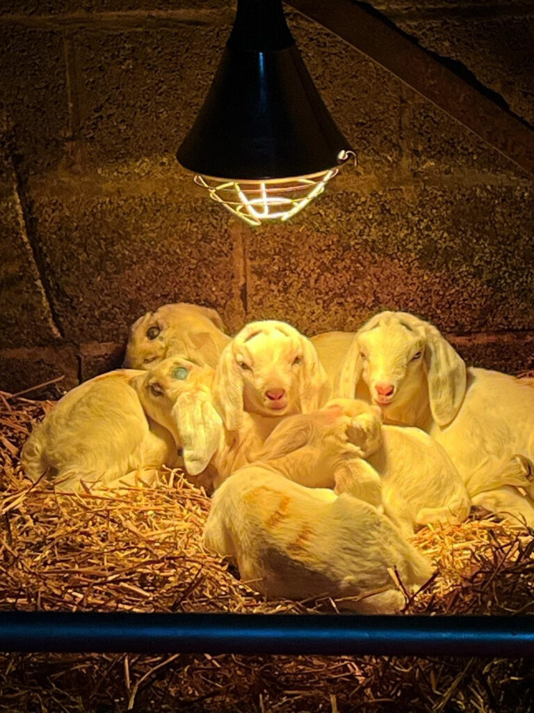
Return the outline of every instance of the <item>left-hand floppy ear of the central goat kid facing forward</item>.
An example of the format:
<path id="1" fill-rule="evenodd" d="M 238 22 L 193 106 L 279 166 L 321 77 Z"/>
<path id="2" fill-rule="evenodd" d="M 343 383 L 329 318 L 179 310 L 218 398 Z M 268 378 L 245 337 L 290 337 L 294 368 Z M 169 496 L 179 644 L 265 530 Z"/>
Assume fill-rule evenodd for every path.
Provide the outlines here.
<path id="1" fill-rule="evenodd" d="M 233 342 L 224 347 L 215 368 L 211 393 L 214 404 L 229 431 L 243 423 L 243 377 L 234 359 Z"/>

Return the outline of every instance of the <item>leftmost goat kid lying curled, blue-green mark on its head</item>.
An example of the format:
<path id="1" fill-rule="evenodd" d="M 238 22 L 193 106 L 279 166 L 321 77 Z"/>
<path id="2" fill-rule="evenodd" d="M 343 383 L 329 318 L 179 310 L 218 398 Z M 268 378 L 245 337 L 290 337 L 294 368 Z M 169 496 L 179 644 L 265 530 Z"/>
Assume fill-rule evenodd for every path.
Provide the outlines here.
<path id="1" fill-rule="evenodd" d="M 151 371 L 120 369 L 77 386 L 28 438 L 21 456 L 26 474 L 48 473 L 77 490 L 135 469 L 184 466 L 194 483 L 214 482 L 251 460 L 263 443 L 245 419 L 229 434 L 211 397 L 214 370 L 183 356 Z M 183 459 L 182 459 L 183 456 Z"/>

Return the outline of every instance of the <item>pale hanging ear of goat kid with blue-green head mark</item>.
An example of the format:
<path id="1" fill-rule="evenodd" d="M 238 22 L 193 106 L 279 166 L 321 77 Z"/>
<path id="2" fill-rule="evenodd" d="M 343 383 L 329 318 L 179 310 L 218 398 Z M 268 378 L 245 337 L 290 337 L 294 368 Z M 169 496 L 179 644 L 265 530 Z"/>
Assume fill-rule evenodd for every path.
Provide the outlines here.
<path id="1" fill-rule="evenodd" d="M 208 394 L 192 391 L 178 396 L 172 409 L 184 451 L 184 464 L 191 476 L 204 471 L 219 447 L 223 434 L 221 416 Z"/>

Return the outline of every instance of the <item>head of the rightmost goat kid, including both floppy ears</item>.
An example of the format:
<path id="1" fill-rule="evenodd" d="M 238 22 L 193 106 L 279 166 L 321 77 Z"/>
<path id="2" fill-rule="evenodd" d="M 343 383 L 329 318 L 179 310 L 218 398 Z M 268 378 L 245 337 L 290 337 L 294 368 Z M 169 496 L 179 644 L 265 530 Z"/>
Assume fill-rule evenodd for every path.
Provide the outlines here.
<path id="1" fill-rule="evenodd" d="M 466 390 L 466 366 L 436 327 L 407 312 L 380 312 L 357 332 L 342 365 L 337 393 L 355 396 L 360 379 L 384 411 L 409 409 L 428 391 L 437 424 L 456 416 Z"/>

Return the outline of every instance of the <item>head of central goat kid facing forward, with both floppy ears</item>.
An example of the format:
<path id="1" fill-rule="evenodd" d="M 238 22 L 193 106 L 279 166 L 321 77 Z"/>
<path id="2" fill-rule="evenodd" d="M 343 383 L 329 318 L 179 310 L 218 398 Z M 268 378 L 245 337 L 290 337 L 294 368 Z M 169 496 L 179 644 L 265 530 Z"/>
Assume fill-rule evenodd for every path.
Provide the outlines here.
<path id="1" fill-rule="evenodd" d="M 266 438 L 278 419 L 322 406 L 330 387 L 310 340 L 286 322 L 265 320 L 247 324 L 225 347 L 213 392 L 227 429 L 239 429 L 248 412 Z"/>

